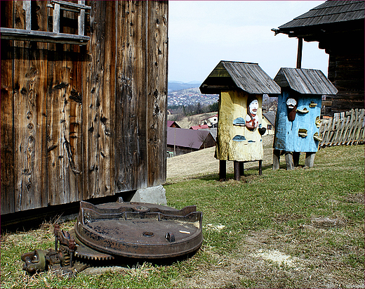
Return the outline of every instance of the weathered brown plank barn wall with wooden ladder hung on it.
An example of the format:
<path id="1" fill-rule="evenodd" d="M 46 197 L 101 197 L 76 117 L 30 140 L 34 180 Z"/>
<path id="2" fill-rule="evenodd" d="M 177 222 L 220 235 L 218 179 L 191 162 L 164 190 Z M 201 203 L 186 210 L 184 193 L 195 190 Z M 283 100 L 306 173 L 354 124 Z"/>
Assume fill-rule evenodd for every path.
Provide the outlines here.
<path id="1" fill-rule="evenodd" d="M 1 215 L 166 180 L 168 1 L 1 1 Z"/>

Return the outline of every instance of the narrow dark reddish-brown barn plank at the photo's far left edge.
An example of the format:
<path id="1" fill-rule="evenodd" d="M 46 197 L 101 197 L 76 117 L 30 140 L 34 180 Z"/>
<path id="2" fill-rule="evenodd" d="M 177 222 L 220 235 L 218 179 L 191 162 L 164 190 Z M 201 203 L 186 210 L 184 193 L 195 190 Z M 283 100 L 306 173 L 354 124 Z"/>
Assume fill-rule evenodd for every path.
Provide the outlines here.
<path id="1" fill-rule="evenodd" d="M 13 28 L 13 1 L 1 3 L 1 24 Z M 13 146 L 13 41 L 1 40 L 1 214 L 15 212 Z"/>

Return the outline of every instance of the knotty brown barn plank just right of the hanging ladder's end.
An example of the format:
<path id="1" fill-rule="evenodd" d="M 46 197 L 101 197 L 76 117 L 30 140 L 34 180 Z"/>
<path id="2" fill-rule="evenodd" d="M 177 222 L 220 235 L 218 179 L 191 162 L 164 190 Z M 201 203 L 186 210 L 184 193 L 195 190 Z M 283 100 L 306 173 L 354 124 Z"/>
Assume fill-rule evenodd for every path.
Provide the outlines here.
<path id="1" fill-rule="evenodd" d="M 84 106 L 84 199 L 114 193 L 115 6 L 93 1 Z"/>

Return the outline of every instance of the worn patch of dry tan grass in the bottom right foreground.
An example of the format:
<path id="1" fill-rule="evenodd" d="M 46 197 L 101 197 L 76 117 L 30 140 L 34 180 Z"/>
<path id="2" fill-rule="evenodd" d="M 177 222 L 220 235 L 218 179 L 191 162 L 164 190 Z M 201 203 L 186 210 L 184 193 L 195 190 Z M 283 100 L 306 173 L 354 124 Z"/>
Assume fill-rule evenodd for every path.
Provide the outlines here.
<path id="1" fill-rule="evenodd" d="M 326 236 L 320 229 L 312 230 Z M 302 242 L 290 231 L 262 230 L 242 236 L 231 254 L 217 256 L 204 248 L 220 262 L 198 264 L 194 276 L 185 279 L 186 288 L 364 288 L 358 281 L 363 271 L 347 267 L 339 273 L 346 253 L 320 246 L 306 255 L 301 251 L 309 249 Z"/>

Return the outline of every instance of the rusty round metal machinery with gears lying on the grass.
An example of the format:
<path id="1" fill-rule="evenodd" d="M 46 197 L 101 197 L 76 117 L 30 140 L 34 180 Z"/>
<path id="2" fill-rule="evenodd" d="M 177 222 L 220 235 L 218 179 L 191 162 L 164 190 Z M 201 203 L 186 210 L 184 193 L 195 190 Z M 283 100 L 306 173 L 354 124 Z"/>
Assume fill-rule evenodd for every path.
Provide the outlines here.
<path id="1" fill-rule="evenodd" d="M 22 255 L 29 274 L 48 268 L 70 274 L 107 260 L 161 260 L 189 255 L 203 242 L 202 213 L 149 203 L 80 203 L 74 229 L 55 224 L 55 249 Z"/>

